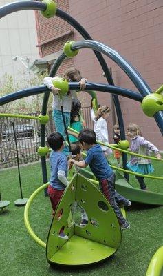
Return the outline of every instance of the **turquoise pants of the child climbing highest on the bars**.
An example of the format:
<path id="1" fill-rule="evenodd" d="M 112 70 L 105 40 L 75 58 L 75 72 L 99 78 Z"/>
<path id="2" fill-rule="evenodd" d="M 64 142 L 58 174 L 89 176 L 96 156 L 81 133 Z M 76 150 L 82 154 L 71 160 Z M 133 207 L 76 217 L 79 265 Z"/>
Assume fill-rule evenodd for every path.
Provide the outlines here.
<path id="1" fill-rule="evenodd" d="M 66 127 L 68 127 L 70 124 L 70 112 L 64 112 L 64 117 L 65 117 Z M 63 124 L 62 112 L 60 110 L 54 110 L 53 119 L 54 119 L 56 132 L 61 133 L 61 135 L 63 135 L 63 138 L 66 141 L 67 137 L 66 137 L 65 127 Z M 69 148 L 66 144 L 62 152 L 64 153 L 64 155 L 69 155 Z"/>

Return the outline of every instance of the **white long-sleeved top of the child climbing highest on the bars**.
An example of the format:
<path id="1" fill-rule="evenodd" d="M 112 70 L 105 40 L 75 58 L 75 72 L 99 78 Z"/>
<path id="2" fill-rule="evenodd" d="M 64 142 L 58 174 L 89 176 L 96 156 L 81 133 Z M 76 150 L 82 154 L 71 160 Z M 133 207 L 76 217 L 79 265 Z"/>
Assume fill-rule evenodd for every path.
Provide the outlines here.
<path id="1" fill-rule="evenodd" d="M 47 88 L 51 89 L 52 86 L 54 86 L 52 83 L 53 79 L 54 78 L 52 77 L 45 77 L 43 79 L 43 84 L 45 84 Z M 65 95 L 62 97 L 64 112 L 71 112 L 73 98 L 77 99 L 76 90 L 70 90 L 69 95 Z M 59 97 L 58 95 L 53 96 L 52 109 L 61 111 L 61 97 Z"/>

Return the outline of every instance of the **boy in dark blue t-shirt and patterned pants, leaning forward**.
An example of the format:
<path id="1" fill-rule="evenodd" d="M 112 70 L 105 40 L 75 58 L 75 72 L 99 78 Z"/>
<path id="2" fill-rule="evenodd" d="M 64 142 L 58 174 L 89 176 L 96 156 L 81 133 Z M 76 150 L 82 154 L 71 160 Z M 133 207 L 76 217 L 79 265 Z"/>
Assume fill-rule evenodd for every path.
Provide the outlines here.
<path id="1" fill-rule="evenodd" d="M 74 163 L 80 168 L 86 168 L 88 165 L 99 181 L 100 190 L 107 197 L 113 210 L 118 218 L 121 230 L 130 227 L 128 221 L 124 219 L 118 204 L 130 206 L 129 199 L 122 197 L 115 190 L 115 174 L 107 163 L 107 159 L 103 155 L 101 147 L 96 144 L 96 133 L 94 130 L 83 129 L 80 131 L 78 140 L 84 150 L 87 150 L 87 157 L 83 161 L 70 159 L 69 162 Z M 118 204 L 116 203 L 118 201 Z"/>

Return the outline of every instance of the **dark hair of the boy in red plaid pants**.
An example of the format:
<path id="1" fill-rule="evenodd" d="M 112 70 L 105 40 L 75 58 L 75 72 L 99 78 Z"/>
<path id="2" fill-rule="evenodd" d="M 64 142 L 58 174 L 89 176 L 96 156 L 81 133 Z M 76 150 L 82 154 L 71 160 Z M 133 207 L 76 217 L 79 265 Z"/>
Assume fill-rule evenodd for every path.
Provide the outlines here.
<path id="1" fill-rule="evenodd" d="M 59 150 L 61 146 L 63 145 L 64 138 L 61 133 L 55 132 L 51 133 L 47 137 L 47 144 L 52 148 L 52 150 Z"/>

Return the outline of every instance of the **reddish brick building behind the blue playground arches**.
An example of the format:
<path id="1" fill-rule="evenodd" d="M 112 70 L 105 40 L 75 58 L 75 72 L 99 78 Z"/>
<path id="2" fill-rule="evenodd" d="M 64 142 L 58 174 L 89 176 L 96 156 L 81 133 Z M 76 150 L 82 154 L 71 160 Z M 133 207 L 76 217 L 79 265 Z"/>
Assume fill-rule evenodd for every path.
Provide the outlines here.
<path id="1" fill-rule="evenodd" d="M 163 74 L 163 3 L 162 0 L 56 0 L 57 7 L 69 13 L 87 30 L 91 37 L 120 53 L 140 72 L 154 91 L 162 85 Z M 61 54 L 68 40 L 83 37 L 72 26 L 58 17 L 44 18 L 36 11 L 36 26 L 40 57 L 53 62 Z M 105 57 L 112 70 L 115 85 L 137 91 L 124 72 Z M 74 59 L 66 59 L 59 72 L 75 66 L 91 82 L 105 83 L 102 69 L 90 49 L 82 49 Z M 83 93 L 89 105 L 89 96 Z M 100 104 L 111 104 L 110 95 L 98 92 Z M 153 118 L 146 117 L 140 103 L 119 97 L 124 125 L 135 122 L 142 135 L 163 150 L 162 135 Z M 112 121 L 109 120 L 111 135 Z M 111 141 L 111 139 L 110 139 Z"/>

